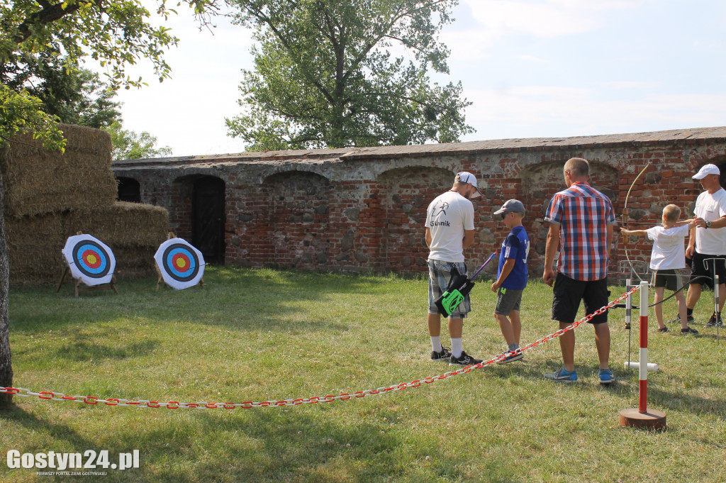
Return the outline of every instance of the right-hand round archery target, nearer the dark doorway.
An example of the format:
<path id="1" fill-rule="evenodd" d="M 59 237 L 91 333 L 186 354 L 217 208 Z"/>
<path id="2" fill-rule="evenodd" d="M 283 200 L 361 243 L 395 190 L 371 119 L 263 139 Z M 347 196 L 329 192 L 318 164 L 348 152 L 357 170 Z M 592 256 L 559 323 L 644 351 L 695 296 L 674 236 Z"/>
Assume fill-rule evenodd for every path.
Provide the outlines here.
<path id="1" fill-rule="evenodd" d="M 204 275 L 202 252 L 182 238 L 159 245 L 154 259 L 164 282 L 176 290 L 197 285 Z"/>

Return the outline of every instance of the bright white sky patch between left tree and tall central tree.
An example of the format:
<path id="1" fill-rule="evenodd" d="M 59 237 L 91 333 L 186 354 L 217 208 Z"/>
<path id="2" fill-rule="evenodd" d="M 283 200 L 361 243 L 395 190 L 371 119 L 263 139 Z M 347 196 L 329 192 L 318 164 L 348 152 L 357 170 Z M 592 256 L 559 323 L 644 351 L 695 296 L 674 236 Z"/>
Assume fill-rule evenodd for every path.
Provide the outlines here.
<path id="1" fill-rule="evenodd" d="M 171 65 L 171 78 L 158 82 L 150 62 L 129 68 L 131 76 L 143 76 L 149 85 L 122 90 L 121 116 L 124 129 L 147 131 L 158 146 L 169 146 L 173 155 L 240 153 L 240 139 L 227 137 L 224 118 L 240 113 L 237 89 L 241 68 L 250 68 L 252 34 L 217 17 L 212 31 L 199 25 L 186 9 L 164 23 L 179 37 L 179 46 L 164 56 Z"/>

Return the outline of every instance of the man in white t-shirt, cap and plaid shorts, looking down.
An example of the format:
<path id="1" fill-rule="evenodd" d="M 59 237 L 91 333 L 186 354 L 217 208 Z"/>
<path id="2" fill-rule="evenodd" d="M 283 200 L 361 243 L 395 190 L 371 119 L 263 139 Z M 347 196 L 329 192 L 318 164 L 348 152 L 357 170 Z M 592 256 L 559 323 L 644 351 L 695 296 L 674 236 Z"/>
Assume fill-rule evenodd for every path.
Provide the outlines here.
<path id="1" fill-rule="evenodd" d="M 474 240 L 474 205 L 471 198 L 481 192 L 476 177 L 462 171 L 454 178 L 452 189 L 437 196 L 426 210 L 426 245 L 428 254 L 428 334 L 431 336 L 431 359 L 449 360 L 450 365 L 473 365 L 474 359 L 462 349 L 464 319 L 471 310 L 469 296 L 449 315 L 451 350 L 441 346 L 441 314 L 434 303 L 446 291 L 452 270 L 467 275 L 464 248 Z"/>

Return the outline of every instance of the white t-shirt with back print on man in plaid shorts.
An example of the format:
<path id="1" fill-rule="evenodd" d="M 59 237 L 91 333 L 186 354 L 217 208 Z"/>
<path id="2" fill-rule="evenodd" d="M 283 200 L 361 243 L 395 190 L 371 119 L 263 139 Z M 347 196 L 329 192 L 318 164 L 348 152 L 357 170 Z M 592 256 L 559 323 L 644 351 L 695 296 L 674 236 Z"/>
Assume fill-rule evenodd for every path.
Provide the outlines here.
<path id="1" fill-rule="evenodd" d="M 431 230 L 429 259 L 464 261 L 464 230 L 474 230 L 474 205 L 459 193 L 447 191 L 428 206 L 426 227 Z"/>

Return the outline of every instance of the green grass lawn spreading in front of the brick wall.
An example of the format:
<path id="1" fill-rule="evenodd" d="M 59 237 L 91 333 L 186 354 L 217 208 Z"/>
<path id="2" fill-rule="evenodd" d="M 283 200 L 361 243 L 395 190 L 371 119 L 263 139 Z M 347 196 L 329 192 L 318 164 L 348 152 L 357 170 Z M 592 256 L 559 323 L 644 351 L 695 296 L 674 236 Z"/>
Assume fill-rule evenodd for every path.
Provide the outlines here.
<path id="1" fill-rule="evenodd" d="M 455 368 L 429 360 L 426 281 L 266 269 L 209 268 L 205 288 L 154 291 L 122 281 L 73 297 L 71 285 L 13 288 L 15 386 L 99 398 L 181 402 L 296 399 L 407 383 Z M 613 298 L 624 291 L 613 287 Z M 651 296 L 652 300 L 652 296 Z M 489 283 L 473 290 L 464 349 L 505 349 Z M 522 342 L 554 332 L 552 292 L 531 282 Z M 674 299 L 664 307 L 676 314 Z M 667 416 L 653 432 L 619 426 L 637 407 L 637 371 L 625 370 L 624 310 L 610 313 L 611 368 L 597 381 L 592 327 L 576 329 L 579 383 L 542 373 L 561 365 L 555 339 L 525 359 L 418 388 L 347 402 L 253 409 L 110 407 L 15 397 L 0 413 L 0 481 L 103 482 L 723 482 L 726 340 L 703 328 L 656 331 L 650 313 L 649 406 Z M 634 325 L 637 329 L 637 323 Z M 721 336 L 726 336 L 722 331 Z M 448 336 L 442 336 L 448 345 Z M 632 360 L 637 360 L 637 330 Z M 139 468 L 106 476 L 38 476 L 8 468 L 8 450 L 139 450 Z M 84 458 L 84 461 L 86 458 Z M 87 471 L 87 470 L 86 470 Z"/>

